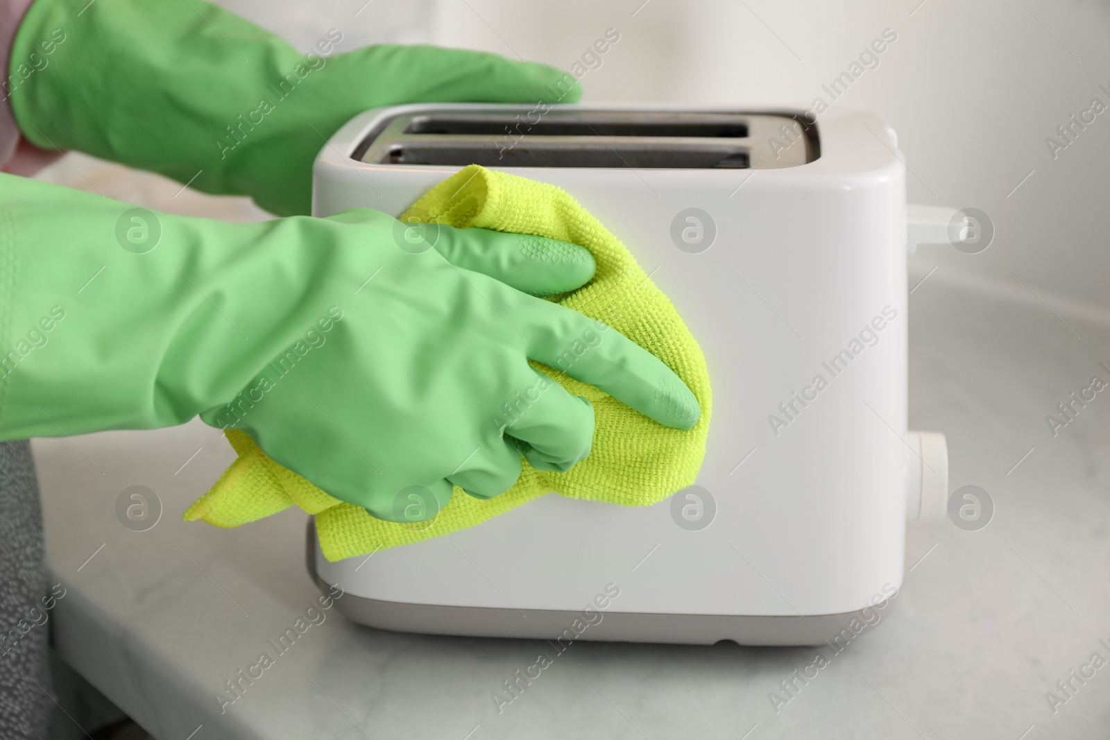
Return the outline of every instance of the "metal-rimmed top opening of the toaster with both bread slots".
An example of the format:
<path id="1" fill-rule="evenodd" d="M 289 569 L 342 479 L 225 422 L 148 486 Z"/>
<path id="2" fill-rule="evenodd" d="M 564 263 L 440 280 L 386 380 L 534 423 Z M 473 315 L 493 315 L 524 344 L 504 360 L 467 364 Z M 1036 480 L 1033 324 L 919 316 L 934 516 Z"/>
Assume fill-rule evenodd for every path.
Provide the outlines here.
<path id="1" fill-rule="evenodd" d="M 422 111 L 380 123 L 353 158 L 374 164 L 637 170 L 798 166 L 819 155 L 798 113 L 534 107 Z"/>

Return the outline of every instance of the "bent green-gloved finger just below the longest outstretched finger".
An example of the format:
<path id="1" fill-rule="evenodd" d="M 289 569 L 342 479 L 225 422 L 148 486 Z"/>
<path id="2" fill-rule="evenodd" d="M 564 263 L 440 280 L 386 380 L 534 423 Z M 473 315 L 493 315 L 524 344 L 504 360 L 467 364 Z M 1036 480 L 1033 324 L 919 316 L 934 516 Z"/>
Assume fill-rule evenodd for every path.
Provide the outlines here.
<path id="1" fill-rule="evenodd" d="M 589 455 L 594 407 L 528 367 L 528 382 L 498 409 L 505 434 L 537 470 L 568 470 Z"/>

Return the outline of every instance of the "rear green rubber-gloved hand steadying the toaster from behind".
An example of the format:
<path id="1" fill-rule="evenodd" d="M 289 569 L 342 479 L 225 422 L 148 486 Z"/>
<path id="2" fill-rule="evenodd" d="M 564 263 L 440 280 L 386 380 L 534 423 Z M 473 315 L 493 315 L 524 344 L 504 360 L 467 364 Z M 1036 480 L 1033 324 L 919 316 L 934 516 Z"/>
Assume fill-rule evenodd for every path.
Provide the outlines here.
<path id="1" fill-rule="evenodd" d="M 332 31 L 295 50 L 204 0 L 34 0 L 12 45 L 12 112 L 42 149 L 75 149 L 293 215 L 310 212 L 316 153 L 362 111 L 581 94 L 572 75 L 543 64 L 345 43 Z"/>

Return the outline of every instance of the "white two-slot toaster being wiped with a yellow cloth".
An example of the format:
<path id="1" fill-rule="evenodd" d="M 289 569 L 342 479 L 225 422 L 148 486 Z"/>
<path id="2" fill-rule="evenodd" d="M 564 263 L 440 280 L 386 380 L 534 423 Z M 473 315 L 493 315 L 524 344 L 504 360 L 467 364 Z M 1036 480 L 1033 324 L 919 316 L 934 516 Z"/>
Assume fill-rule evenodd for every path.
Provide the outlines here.
<path id="1" fill-rule="evenodd" d="M 477 163 L 553 183 L 666 293 L 713 386 L 697 485 L 650 507 L 549 494 L 447 536 L 309 570 L 373 627 L 443 635 L 815 645 L 874 624 L 907 520 L 947 506 L 942 435 L 907 430 L 911 209 L 897 140 L 829 111 L 421 104 L 321 151 L 313 213 L 400 215 Z M 908 236 L 909 234 L 909 236 Z M 851 628 L 855 631 L 855 627 Z"/>

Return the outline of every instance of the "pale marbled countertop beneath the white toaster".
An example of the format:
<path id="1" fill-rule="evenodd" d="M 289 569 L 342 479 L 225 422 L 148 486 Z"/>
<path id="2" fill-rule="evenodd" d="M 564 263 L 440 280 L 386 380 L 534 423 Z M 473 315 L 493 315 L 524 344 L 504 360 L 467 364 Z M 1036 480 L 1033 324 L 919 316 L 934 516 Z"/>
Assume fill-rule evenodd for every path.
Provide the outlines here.
<path id="1" fill-rule="evenodd" d="M 1104 737 L 1110 665 L 1056 713 L 1045 695 L 1093 651 L 1110 660 L 1110 392 L 1054 438 L 1045 415 L 1092 375 L 1110 381 L 1108 339 L 1110 326 L 958 291 L 942 272 L 914 292 L 911 426 L 948 435 L 950 488 L 981 486 L 996 514 L 979 531 L 911 526 L 885 624 L 826 649 L 778 713 L 769 692 L 813 648 L 578 642 L 498 714 L 491 692 L 543 641 L 384 632 L 332 609 L 221 714 L 224 682 L 319 592 L 299 510 L 238 530 L 181 520 L 233 459 L 196 422 L 33 443 L 68 589 L 57 649 L 160 740 Z M 117 519 L 132 485 L 161 499 L 148 531 Z"/>

